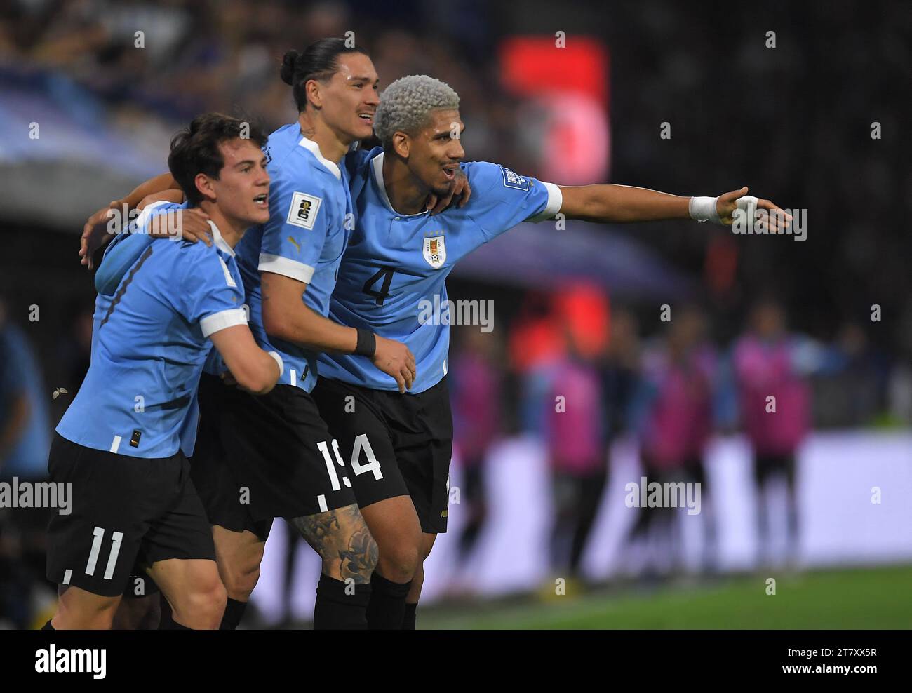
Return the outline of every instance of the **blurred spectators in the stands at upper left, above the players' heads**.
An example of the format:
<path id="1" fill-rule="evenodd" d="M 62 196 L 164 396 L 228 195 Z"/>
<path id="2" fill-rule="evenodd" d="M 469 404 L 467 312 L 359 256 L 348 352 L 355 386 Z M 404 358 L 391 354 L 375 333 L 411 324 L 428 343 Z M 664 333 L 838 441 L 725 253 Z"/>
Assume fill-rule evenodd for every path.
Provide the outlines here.
<path id="1" fill-rule="evenodd" d="M 69 82 L 68 88 L 58 84 L 57 93 L 71 102 L 70 109 L 100 105 L 140 138 L 144 129 L 161 132 L 163 122 L 175 129 L 207 110 L 253 118 L 272 131 L 297 116 L 290 90 L 278 78 L 285 51 L 303 50 L 324 36 L 351 36 L 370 50 L 382 85 L 430 72 L 455 88 L 464 117 L 472 119 L 467 143 L 473 150 L 498 160 L 519 153 L 516 109 L 497 87 L 496 63 L 490 54 L 471 50 L 490 40 L 480 7 L 472 3 L 448 12 L 448 21 L 422 3 L 7 0 L 5 5 L 0 66 L 38 81 Z"/>

